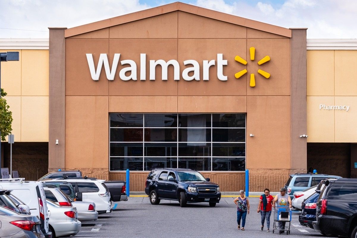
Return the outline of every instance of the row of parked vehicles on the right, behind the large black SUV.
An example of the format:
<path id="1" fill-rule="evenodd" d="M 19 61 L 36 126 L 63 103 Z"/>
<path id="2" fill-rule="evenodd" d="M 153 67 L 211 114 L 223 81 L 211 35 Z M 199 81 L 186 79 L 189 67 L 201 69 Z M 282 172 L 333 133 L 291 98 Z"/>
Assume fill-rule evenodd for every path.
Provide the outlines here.
<path id="1" fill-rule="evenodd" d="M 300 176 L 310 178 L 301 179 Z M 317 179 L 322 180 L 317 183 Z M 313 186 L 296 191 L 292 183 L 303 180 L 305 185 Z M 293 193 L 293 207 L 302 210 L 299 215 L 302 226 L 325 236 L 357 237 L 357 179 L 326 174 L 292 174 L 286 186 Z"/>

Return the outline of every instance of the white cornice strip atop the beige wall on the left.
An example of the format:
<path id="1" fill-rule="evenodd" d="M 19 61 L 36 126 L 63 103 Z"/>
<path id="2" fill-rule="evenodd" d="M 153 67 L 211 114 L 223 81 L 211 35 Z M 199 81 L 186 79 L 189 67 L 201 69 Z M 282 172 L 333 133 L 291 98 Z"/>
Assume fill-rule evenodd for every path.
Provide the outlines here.
<path id="1" fill-rule="evenodd" d="M 0 38 L 1 50 L 48 50 L 48 38 Z"/>

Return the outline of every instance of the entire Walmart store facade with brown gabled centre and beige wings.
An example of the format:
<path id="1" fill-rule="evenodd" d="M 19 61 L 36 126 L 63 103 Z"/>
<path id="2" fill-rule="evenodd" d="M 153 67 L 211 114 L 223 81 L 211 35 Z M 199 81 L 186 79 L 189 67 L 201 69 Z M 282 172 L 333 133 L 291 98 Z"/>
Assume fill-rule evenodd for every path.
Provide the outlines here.
<path id="1" fill-rule="evenodd" d="M 176 2 L 0 49 L 21 55 L 2 65 L 20 174 L 129 168 L 134 191 L 156 167 L 201 171 L 222 191 L 244 188 L 245 169 L 251 191 L 310 167 L 357 174 L 356 41 Z"/>

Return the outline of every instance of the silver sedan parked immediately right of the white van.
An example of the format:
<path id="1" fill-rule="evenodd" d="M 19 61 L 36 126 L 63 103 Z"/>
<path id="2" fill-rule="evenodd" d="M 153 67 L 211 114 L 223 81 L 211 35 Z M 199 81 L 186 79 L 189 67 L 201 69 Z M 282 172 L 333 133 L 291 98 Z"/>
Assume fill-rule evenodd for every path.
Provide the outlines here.
<path id="1" fill-rule="evenodd" d="M 81 222 L 77 219 L 75 207 L 62 207 L 48 199 L 46 203 L 49 209 L 49 231 L 52 232 L 52 237 L 74 236 L 79 232 Z"/>

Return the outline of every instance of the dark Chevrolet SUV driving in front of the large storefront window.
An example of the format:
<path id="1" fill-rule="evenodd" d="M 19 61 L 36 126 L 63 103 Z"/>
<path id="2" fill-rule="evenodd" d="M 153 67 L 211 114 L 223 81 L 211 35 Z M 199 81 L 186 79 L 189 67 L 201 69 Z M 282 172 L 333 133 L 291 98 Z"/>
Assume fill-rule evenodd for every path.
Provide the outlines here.
<path id="1" fill-rule="evenodd" d="M 180 202 L 181 207 L 196 202 L 208 202 L 210 207 L 215 207 L 221 199 L 220 187 L 209 181 L 195 170 L 157 168 L 147 176 L 145 193 L 151 204 L 167 199 Z"/>

